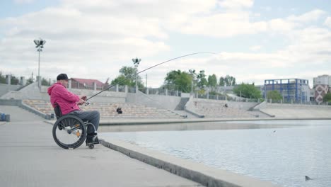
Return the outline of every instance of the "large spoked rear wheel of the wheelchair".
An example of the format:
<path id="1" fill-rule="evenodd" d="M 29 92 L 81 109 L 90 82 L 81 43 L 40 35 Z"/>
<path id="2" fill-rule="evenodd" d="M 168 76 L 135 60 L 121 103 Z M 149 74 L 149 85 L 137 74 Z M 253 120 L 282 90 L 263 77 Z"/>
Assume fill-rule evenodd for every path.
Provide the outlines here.
<path id="1" fill-rule="evenodd" d="M 53 125 L 54 141 L 64 149 L 75 149 L 86 140 L 86 127 L 83 121 L 74 115 L 64 115 Z"/>

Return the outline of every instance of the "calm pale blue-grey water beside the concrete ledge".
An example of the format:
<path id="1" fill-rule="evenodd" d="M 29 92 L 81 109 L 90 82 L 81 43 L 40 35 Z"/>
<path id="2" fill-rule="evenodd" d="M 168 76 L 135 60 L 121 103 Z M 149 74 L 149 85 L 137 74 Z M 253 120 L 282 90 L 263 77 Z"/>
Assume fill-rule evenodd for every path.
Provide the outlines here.
<path id="1" fill-rule="evenodd" d="M 258 123 L 267 128 L 256 128 Z M 279 125 L 274 121 L 256 121 L 244 124 L 254 127 L 249 130 L 104 132 L 102 136 L 281 186 L 331 186 L 331 120 L 277 123 L 283 128 L 275 130 Z M 243 127 L 243 122 L 226 127 L 231 124 Z M 305 176 L 313 180 L 306 181 Z"/>

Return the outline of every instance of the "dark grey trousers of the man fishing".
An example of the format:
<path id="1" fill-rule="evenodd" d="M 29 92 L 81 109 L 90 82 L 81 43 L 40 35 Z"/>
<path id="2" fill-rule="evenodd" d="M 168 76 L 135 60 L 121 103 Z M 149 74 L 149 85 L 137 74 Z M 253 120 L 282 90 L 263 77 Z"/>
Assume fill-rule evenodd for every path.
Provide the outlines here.
<path id="1" fill-rule="evenodd" d="M 89 123 L 93 123 L 95 130 L 98 130 L 99 127 L 99 120 L 100 120 L 100 113 L 98 111 L 72 111 L 71 115 L 76 115 L 77 117 L 81 118 L 83 121 L 87 121 Z M 91 125 L 88 125 L 88 134 L 93 134 L 94 129 Z"/>

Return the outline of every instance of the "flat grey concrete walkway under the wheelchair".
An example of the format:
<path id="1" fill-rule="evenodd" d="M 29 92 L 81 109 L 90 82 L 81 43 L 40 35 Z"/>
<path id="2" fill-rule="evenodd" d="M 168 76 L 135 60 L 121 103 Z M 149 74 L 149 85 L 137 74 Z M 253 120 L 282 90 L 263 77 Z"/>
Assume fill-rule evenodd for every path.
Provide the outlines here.
<path id="1" fill-rule="evenodd" d="M 201 186 L 103 145 L 66 150 L 52 125 L 16 106 L 0 106 L 11 122 L 0 123 L 1 186 Z"/>

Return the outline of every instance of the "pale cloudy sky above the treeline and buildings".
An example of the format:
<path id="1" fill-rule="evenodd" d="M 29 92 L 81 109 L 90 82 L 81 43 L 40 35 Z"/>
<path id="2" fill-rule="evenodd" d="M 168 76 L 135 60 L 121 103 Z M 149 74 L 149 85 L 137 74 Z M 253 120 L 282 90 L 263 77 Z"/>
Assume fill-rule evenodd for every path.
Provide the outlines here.
<path id="1" fill-rule="evenodd" d="M 123 66 L 147 86 L 172 70 L 236 77 L 308 79 L 331 74 L 331 3 L 323 0 L 1 0 L 0 72 L 38 72 L 33 40 L 46 40 L 40 76 L 115 79 Z"/>

